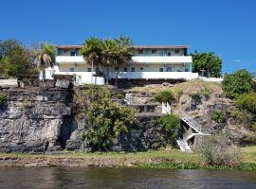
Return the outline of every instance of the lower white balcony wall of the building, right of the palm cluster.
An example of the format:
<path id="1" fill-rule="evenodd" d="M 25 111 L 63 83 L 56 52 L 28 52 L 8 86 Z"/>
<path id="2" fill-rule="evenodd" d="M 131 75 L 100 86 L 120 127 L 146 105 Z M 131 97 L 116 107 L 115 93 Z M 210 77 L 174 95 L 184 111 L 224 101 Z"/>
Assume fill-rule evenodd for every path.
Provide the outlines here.
<path id="1" fill-rule="evenodd" d="M 111 73 L 110 77 L 115 78 L 116 73 Z M 198 78 L 198 73 L 192 73 L 192 72 L 120 72 L 119 78 L 191 80 L 191 79 Z"/>

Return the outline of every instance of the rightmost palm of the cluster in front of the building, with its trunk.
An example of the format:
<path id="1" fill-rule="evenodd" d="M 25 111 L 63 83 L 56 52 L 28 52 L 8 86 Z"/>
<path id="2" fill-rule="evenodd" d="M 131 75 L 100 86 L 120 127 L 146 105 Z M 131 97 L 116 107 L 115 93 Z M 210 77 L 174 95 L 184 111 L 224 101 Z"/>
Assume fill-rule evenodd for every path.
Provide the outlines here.
<path id="1" fill-rule="evenodd" d="M 115 87 L 118 85 L 119 67 L 127 63 L 127 61 L 132 60 L 132 57 L 135 55 L 135 49 L 132 47 L 133 42 L 128 37 L 120 36 L 116 42 L 118 43 L 118 54 L 116 57 L 118 71 L 115 79 Z"/>

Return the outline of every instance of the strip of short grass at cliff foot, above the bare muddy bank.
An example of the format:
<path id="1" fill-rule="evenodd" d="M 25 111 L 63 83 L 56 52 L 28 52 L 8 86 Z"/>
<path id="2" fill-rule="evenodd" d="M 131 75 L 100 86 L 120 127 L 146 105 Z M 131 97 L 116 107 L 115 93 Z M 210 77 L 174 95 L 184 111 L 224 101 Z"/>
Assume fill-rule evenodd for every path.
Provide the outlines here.
<path id="1" fill-rule="evenodd" d="M 242 163 L 256 163 L 256 146 L 241 148 Z M 137 153 L 124 152 L 63 152 L 60 154 L 26 154 L 26 153 L 0 153 L 0 158 L 108 158 L 108 159 L 133 159 L 135 162 L 148 162 L 150 160 L 172 161 L 175 163 L 200 163 L 200 154 L 186 153 L 177 149 L 156 150 Z"/>

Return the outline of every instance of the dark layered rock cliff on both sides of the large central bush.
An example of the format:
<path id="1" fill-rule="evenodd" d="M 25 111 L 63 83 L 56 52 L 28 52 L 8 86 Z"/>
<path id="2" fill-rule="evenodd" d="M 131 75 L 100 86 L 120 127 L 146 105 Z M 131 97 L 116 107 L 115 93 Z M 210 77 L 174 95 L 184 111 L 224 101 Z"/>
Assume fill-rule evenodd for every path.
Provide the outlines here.
<path id="1" fill-rule="evenodd" d="M 90 151 L 82 142 L 85 120 L 76 116 L 70 83 L 42 84 L 40 88 L 0 91 L 7 102 L 0 106 L 0 152 Z M 139 105 L 139 126 L 119 136 L 115 151 L 140 151 L 164 146 L 155 126 L 155 107 Z M 143 114 L 143 112 L 146 112 Z"/>

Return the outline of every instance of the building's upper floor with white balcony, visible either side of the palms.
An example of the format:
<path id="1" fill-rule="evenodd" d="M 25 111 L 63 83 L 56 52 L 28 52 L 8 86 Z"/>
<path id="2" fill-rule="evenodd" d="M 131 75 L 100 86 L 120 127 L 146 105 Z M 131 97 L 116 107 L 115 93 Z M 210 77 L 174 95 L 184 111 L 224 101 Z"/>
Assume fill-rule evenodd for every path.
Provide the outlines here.
<path id="1" fill-rule="evenodd" d="M 189 45 L 133 45 L 134 63 L 191 63 L 188 56 Z M 82 45 L 57 45 L 57 62 L 84 63 L 80 55 Z"/>

